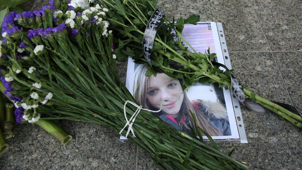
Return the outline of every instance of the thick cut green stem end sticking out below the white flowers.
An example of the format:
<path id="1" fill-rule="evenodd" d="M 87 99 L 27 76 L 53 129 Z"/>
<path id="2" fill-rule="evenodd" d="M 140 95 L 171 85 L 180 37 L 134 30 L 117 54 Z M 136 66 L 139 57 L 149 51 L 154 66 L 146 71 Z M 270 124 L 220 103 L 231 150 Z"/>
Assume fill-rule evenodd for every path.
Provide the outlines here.
<path id="1" fill-rule="evenodd" d="M 66 145 L 72 139 L 72 136 L 66 133 L 65 130 L 63 130 L 60 126 L 58 126 L 51 120 L 39 119 L 37 122 L 34 122 L 32 124 L 37 124 L 41 126 L 44 130 L 50 133 L 54 138 L 56 138 L 63 145 Z"/>

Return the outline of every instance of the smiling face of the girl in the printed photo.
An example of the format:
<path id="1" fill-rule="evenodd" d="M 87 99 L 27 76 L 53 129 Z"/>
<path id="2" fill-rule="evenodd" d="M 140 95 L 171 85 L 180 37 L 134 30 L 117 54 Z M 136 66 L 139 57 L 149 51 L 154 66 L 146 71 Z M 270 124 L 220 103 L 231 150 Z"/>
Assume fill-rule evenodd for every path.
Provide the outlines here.
<path id="1" fill-rule="evenodd" d="M 183 102 L 183 90 L 178 79 L 157 73 L 156 77 L 149 77 L 147 90 L 147 99 L 153 107 L 160 109 L 162 102 L 162 111 L 166 114 L 175 115 L 179 112 Z"/>

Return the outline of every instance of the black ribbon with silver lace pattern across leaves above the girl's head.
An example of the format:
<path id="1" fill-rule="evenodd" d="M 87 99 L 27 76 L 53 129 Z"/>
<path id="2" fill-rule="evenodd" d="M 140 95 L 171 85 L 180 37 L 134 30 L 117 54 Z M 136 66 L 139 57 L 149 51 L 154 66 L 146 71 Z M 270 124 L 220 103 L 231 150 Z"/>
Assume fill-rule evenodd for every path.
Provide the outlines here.
<path id="1" fill-rule="evenodd" d="M 159 8 L 157 8 L 153 12 L 145 29 L 144 38 L 143 38 L 143 53 L 145 59 L 147 60 L 147 62 L 150 64 L 151 67 L 152 67 L 152 63 L 150 58 L 152 54 L 156 31 L 159 25 L 161 24 L 162 18 L 164 16 L 165 14 Z"/>

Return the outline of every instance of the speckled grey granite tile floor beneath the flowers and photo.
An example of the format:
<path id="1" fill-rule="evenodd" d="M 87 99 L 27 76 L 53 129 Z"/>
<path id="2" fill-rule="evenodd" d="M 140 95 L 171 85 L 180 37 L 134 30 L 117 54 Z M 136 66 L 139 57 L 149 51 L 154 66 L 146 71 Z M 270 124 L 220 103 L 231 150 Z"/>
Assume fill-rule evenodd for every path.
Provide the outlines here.
<path id="1" fill-rule="evenodd" d="M 30 0 L 25 10 L 38 9 L 48 0 Z M 160 0 L 169 17 L 201 15 L 201 21 L 222 22 L 232 67 L 253 92 L 302 111 L 302 3 L 298 0 Z M 126 80 L 127 63 L 116 63 Z M 251 169 L 301 169 L 301 131 L 276 114 L 241 107 L 248 144 L 233 158 Z M 158 169 L 134 144 L 117 141 L 118 133 L 82 122 L 56 121 L 73 136 L 62 146 L 37 125 L 18 124 L 8 140 L 9 152 L 0 157 L 1 169 Z M 222 149 L 227 153 L 228 149 Z"/>

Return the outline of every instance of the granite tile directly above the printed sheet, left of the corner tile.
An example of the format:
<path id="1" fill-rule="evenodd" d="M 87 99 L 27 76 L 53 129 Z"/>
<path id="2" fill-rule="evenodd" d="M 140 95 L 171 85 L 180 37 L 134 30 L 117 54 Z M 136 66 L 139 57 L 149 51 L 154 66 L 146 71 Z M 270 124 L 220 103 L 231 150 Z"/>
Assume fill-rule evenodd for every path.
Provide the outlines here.
<path id="1" fill-rule="evenodd" d="M 200 21 L 222 22 L 229 51 L 269 50 L 248 0 L 162 0 L 157 6 L 171 19 L 197 14 Z"/>

